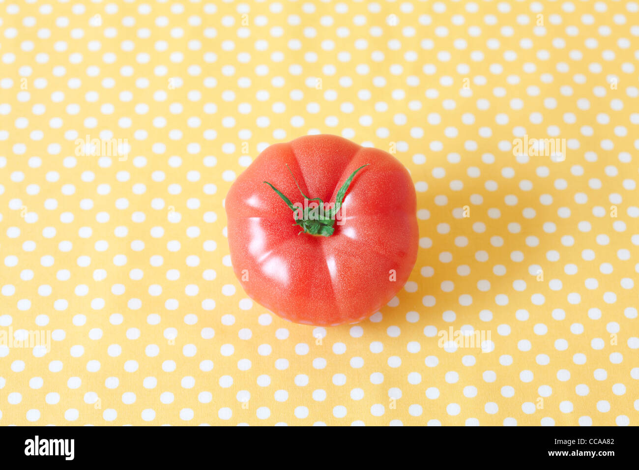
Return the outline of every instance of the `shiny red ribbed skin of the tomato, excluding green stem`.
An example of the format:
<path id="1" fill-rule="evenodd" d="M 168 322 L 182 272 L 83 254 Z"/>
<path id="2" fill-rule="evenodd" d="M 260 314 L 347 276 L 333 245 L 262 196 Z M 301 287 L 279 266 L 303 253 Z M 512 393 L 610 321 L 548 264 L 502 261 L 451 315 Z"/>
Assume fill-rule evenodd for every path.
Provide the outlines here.
<path id="1" fill-rule="evenodd" d="M 357 168 L 330 237 L 299 233 L 291 202 L 334 202 Z M 269 146 L 226 196 L 233 271 L 254 301 L 286 320 L 354 323 L 394 297 L 417 258 L 417 198 L 408 170 L 389 153 L 332 135 Z"/>

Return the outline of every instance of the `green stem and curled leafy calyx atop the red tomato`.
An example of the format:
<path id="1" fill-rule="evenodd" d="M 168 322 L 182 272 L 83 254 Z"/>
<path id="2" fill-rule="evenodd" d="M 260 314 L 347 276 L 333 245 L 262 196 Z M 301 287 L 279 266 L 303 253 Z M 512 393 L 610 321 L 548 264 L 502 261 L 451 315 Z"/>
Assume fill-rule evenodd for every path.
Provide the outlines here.
<path id="1" fill-rule="evenodd" d="M 346 181 L 344 182 L 342 187 L 339 188 L 339 191 L 337 191 L 337 196 L 335 197 L 335 205 L 333 207 L 331 207 L 331 204 L 322 201 L 321 198 L 309 198 L 308 196 L 306 196 L 304 192 L 302 192 L 302 188 L 300 188 L 300 185 L 295 179 L 293 172 L 290 168 L 288 168 L 288 165 L 286 165 L 286 168 L 288 168 L 289 173 L 291 173 L 291 176 L 293 176 L 293 181 L 295 181 L 297 189 L 300 190 L 300 194 L 304 196 L 304 199 L 306 201 L 304 206 L 302 206 L 302 203 L 291 203 L 291 200 L 284 196 L 284 194 L 282 194 L 282 192 L 279 191 L 275 186 L 270 184 L 268 181 L 265 181 L 265 183 L 268 184 L 273 189 L 273 191 L 275 191 L 277 195 L 282 198 L 282 201 L 284 201 L 284 203 L 286 203 L 286 205 L 288 205 L 288 207 L 293 211 L 293 220 L 295 220 L 295 223 L 293 225 L 298 225 L 300 226 L 300 228 L 302 228 L 302 230 L 298 232 L 298 235 L 300 235 L 300 233 L 308 233 L 309 235 L 330 237 L 335 231 L 335 214 L 337 214 L 337 212 L 339 212 L 339 209 L 342 207 L 342 203 L 344 202 L 344 197 L 346 196 L 348 187 L 350 186 L 351 182 L 353 182 L 353 178 L 355 178 L 357 172 L 368 165 L 369 164 L 367 163 L 366 165 L 360 166 L 360 168 L 353 171 L 353 173 L 351 173 L 351 175 L 346 178 Z M 319 203 L 314 203 L 313 207 L 310 207 L 309 201 L 319 201 Z"/>

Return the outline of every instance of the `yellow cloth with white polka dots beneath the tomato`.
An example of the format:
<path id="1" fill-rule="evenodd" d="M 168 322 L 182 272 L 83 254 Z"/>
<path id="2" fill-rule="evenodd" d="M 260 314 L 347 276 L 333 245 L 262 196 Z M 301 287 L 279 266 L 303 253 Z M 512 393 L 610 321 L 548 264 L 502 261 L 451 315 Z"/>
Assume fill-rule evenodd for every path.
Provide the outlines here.
<path id="1" fill-rule="evenodd" d="M 0 425 L 639 424 L 636 1 L 0 10 Z M 233 180 L 320 132 L 417 189 L 358 325 L 230 266 Z"/>

